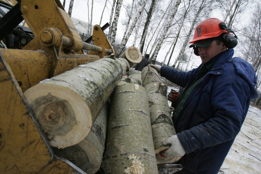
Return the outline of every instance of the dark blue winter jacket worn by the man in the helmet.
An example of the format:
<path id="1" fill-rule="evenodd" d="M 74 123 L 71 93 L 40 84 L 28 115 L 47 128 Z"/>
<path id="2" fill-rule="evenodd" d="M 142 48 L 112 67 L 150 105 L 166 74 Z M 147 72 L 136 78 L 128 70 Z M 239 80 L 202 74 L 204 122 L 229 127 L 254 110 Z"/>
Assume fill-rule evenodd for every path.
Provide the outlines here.
<path id="1" fill-rule="evenodd" d="M 212 70 L 187 97 L 174 125 L 186 151 L 179 162 L 191 172 L 218 173 L 244 122 L 250 100 L 258 97 L 253 67 L 243 59 L 232 58 L 233 54 L 230 49 L 217 55 Z M 160 74 L 186 90 L 200 66 L 189 72 L 162 66 Z"/>

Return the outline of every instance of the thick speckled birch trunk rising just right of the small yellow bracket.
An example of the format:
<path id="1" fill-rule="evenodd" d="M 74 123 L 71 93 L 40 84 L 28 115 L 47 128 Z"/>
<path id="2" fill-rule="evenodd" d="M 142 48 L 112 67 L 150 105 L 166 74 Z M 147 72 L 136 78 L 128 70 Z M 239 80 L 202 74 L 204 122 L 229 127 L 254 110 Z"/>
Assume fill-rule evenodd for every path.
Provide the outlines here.
<path id="1" fill-rule="evenodd" d="M 112 45 L 115 44 L 115 36 L 116 36 L 116 32 L 117 32 L 117 25 L 118 25 L 118 21 L 119 21 L 119 13 L 120 13 L 120 9 L 122 6 L 122 2 L 123 2 L 123 0 L 117 0 L 115 15 L 114 15 L 114 19 L 112 22 L 112 27 L 110 27 L 110 29 L 109 29 L 109 34 L 110 34 L 109 39 L 110 39 L 110 42 Z"/>

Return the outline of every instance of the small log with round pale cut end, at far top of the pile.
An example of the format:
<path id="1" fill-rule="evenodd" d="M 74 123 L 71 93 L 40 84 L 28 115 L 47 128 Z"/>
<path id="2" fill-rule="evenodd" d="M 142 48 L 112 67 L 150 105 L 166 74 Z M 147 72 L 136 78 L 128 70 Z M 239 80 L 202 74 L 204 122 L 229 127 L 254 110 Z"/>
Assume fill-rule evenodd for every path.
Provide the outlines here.
<path id="1" fill-rule="evenodd" d="M 136 65 L 142 60 L 141 51 L 134 46 L 128 47 L 120 57 L 127 59 L 130 63 L 130 67 Z"/>

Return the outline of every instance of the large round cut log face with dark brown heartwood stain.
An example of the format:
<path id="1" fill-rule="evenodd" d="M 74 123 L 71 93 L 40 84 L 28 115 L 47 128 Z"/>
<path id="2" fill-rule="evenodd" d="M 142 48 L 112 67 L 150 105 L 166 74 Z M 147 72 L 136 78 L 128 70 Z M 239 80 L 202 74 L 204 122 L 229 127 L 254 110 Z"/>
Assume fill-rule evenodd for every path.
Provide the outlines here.
<path id="1" fill-rule="evenodd" d="M 89 134 L 93 123 L 91 112 L 74 91 L 53 84 L 38 84 L 25 91 L 25 97 L 51 146 L 73 146 Z"/>

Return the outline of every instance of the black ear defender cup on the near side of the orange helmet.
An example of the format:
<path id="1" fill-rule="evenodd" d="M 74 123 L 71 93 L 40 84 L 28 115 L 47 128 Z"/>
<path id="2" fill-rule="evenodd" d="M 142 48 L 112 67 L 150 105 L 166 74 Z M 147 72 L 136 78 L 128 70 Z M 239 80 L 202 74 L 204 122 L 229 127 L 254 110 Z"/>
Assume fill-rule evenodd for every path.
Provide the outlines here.
<path id="1" fill-rule="evenodd" d="M 228 28 L 224 22 L 221 22 L 219 26 L 221 30 L 227 30 L 228 32 L 227 34 L 223 34 L 221 37 L 223 44 L 229 49 L 236 47 L 237 45 L 236 34 L 230 28 Z M 234 36 L 229 33 L 233 33 Z"/>

